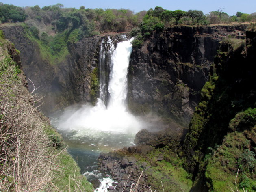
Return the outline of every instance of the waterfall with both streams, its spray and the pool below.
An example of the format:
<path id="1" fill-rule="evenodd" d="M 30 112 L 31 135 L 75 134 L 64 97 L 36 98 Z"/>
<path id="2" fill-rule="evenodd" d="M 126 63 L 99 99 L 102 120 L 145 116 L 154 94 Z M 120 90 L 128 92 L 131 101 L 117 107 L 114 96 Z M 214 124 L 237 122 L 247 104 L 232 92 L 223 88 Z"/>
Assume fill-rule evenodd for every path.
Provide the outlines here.
<path id="1" fill-rule="evenodd" d="M 100 98 L 97 104 L 69 107 L 55 123 L 52 122 L 69 145 L 67 150 L 77 158 L 78 165 L 89 179 L 98 177 L 95 167 L 100 152 L 132 145 L 135 134 L 142 128 L 141 122 L 126 110 L 132 39 L 126 40 L 117 43 L 114 50 L 112 40 L 102 38 Z"/>

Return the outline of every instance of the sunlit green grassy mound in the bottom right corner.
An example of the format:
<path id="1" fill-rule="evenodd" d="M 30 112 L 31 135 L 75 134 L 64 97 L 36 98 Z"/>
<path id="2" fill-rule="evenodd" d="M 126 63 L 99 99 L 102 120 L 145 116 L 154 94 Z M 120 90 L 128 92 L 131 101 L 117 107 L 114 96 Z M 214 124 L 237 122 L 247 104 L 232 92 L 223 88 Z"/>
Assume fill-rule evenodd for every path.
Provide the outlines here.
<path id="1" fill-rule="evenodd" d="M 237 183 L 241 183 L 239 184 L 240 190 L 243 190 L 242 186 L 249 191 L 254 190 L 253 175 L 256 168 L 256 160 L 252 160 L 254 168 L 251 170 L 245 170 L 246 165 L 240 165 L 241 161 L 239 161 L 239 159 L 245 157 L 244 152 L 249 148 L 249 143 L 243 132 L 232 132 L 225 137 L 223 144 L 217 148 L 206 166 L 205 177 L 212 192 L 230 191 L 229 186 L 235 189 L 234 179 L 240 166 L 242 167 L 240 167 L 237 179 Z M 248 185 L 246 183 L 243 184 L 245 180 L 249 183 Z"/>

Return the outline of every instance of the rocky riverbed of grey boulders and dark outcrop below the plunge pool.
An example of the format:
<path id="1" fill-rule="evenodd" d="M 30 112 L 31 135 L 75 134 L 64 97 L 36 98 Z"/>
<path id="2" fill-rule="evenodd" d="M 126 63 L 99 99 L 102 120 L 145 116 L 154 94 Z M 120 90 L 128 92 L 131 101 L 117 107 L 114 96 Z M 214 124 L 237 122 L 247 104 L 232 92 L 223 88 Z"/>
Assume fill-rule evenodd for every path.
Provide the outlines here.
<path id="1" fill-rule="evenodd" d="M 100 154 L 98 157 L 98 172 L 111 175 L 115 181 L 112 183 L 113 186 L 108 187 L 108 191 L 128 192 L 130 188 L 135 188 L 138 179 L 137 190 L 141 191 L 143 189 L 143 191 L 147 191 L 147 179 L 151 168 L 164 159 L 164 155 L 161 153 L 154 157 L 149 157 L 147 154 L 153 149 L 164 147 L 167 143 L 173 143 L 174 149 L 178 147 L 183 136 L 184 133 L 182 134 L 180 130 L 171 131 L 166 129 L 161 132 L 151 133 L 143 129 L 135 136 L 136 146 L 124 147 L 118 151 Z M 141 161 L 140 157 L 143 157 L 146 161 Z M 95 188 L 100 185 L 99 182 L 93 183 Z"/>

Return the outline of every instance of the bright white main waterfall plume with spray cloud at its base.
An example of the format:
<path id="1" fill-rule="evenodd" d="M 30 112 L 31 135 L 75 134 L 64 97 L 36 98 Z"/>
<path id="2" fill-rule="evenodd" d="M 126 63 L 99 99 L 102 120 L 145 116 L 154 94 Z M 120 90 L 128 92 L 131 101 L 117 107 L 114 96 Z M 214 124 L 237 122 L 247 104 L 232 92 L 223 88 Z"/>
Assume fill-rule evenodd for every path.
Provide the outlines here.
<path id="1" fill-rule="evenodd" d="M 126 110 L 127 72 L 132 52 L 131 41 L 132 39 L 118 43 L 111 56 L 108 107 L 106 108 L 104 100 L 102 100 L 106 98 L 106 95 L 101 93 L 94 107 L 83 105 L 78 110 L 66 110 L 60 118 L 58 129 L 76 130 L 78 132 L 77 136 L 98 138 L 107 132 L 111 134 L 132 134 L 134 136 L 142 128 L 141 123 L 135 116 Z M 108 39 L 110 51 L 113 47 L 113 44 L 111 44 L 112 41 Z M 101 49 L 103 48 L 101 47 Z M 107 50 L 102 51 L 105 54 Z M 104 63 L 103 57 L 100 57 L 101 65 Z M 102 92 L 106 87 L 104 80 L 100 82 L 100 87 Z"/>

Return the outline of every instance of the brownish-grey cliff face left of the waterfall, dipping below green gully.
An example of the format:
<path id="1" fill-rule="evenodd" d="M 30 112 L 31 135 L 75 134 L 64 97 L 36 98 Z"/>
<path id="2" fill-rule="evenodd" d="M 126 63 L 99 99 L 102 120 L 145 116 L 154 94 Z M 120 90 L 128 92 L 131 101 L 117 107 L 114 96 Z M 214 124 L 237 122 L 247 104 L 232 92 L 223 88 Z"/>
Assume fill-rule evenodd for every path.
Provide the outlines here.
<path id="1" fill-rule="evenodd" d="M 39 44 L 20 25 L 2 26 L 7 39 L 12 41 L 22 60 L 29 91 L 43 97 L 41 110 L 50 114 L 80 101 L 89 102 L 91 71 L 97 65 L 100 38 L 87 38 L 68 46 L 69 53 L 61 61 L 43 59 Z M 31 80 L 31 81 L 30 81 Z"/>

